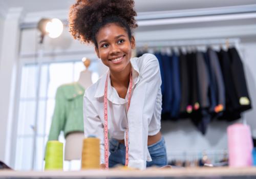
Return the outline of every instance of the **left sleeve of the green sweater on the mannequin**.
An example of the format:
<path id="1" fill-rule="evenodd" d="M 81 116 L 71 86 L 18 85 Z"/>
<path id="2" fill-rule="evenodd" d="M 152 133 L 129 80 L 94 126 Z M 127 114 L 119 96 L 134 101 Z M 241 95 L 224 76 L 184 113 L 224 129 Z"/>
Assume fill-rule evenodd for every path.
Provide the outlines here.
<path id="1" fill-rule="evenodd" d="M 59 133 L 66 124 L 65 96 L 61 87 L 57 89 L 55 96 L 55 107 L 48 140 L 58 140 Z"/>

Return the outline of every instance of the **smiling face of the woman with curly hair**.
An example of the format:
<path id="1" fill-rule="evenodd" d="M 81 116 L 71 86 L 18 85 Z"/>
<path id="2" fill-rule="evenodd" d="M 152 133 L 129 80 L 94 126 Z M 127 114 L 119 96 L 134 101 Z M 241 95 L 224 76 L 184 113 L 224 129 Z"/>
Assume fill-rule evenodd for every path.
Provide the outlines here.
<path id="1" fill-rule="evenodd" d="M 110 68 L 112 73 L 120 73 L 130 69 L 132 49 L 135 48 L 135 39 L 131 41 L 124 28 L 111 23 L 100 28 L 96 34 L 98 48 L 95 51 L 98 58 Z"/>

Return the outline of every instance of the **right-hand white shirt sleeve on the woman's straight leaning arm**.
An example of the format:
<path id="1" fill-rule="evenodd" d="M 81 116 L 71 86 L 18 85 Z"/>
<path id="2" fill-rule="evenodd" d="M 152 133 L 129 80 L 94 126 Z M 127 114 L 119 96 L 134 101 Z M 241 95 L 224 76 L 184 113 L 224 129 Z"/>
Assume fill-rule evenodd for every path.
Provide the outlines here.
<path id="1" fill-rule="evenodd" d="M 145 169 L 147 159 L 148 124 L 153 117 L 161 86 L 159 63 L 155 55 L 147 54 L 140 70 L 140 80 L 134 87 L 127 114 L 129 124 L 129 167 Z"/>

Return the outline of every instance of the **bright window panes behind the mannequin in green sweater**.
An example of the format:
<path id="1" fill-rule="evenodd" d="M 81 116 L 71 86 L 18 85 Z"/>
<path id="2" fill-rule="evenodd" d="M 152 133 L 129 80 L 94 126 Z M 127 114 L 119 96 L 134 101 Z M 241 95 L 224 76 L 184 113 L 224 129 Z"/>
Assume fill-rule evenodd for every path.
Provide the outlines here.
<path id="1" fill-rule="evenodd" d="M 98 79 L 99 62 L 89 66 L 92 81 Z M 55 105 L 55 93 L 61 84 L 77 81 L 84 65 L 80 61 L 26 64 L 22 67 L 17 114 L 16 170 L 44 169 L 44 153 Z M 101 69 L 100 69 L 101 70 Z M 63 135 L 60 142 L 65 143 Z M 64 170 L 79 168 L 79 162 L 64 163 Z"/>

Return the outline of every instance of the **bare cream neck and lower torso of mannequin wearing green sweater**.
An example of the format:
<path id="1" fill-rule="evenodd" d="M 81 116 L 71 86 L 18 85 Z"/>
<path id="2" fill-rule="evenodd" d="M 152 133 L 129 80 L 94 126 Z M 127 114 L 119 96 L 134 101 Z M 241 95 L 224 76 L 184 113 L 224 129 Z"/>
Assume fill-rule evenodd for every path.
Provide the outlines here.
<path id="1" fill-rule="evenodd" d="M 90 66 L 90 59 L 83 58 L 82 59 L 86 70 L 80 72 L 80 76 L 78 79 L 78 84 L 81 85 L 84 89 L 89 87 L 92 83 L 91 72 L 88 70 Z M 66 137 L 66 145 L 65 145 L 65 160 L 80 160 L 82 154 L 82 141 L 84 139 L 84 133 L 81 131 L 70 132 Z"/>

